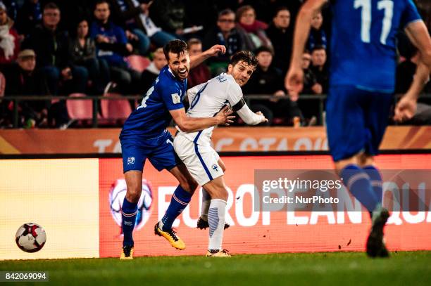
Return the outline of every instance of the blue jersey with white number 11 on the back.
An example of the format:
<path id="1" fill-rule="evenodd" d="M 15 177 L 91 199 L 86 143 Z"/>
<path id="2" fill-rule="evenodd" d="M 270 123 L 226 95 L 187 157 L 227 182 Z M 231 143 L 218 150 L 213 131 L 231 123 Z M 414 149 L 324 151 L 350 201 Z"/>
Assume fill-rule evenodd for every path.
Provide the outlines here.
<path id="1" fill-rule="evenodd" d="M 413 1 L 331 2 L 330 85 L 393 93 L 396 33 L 420 20 Z"/>

